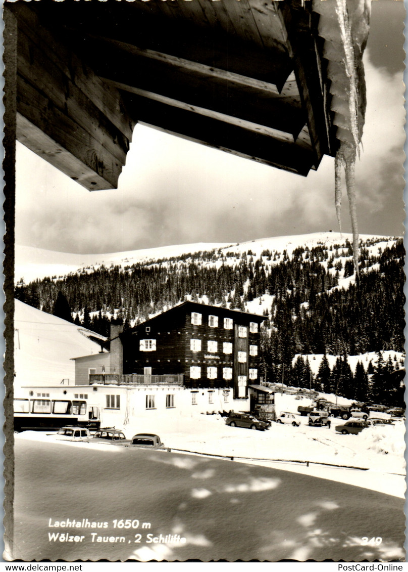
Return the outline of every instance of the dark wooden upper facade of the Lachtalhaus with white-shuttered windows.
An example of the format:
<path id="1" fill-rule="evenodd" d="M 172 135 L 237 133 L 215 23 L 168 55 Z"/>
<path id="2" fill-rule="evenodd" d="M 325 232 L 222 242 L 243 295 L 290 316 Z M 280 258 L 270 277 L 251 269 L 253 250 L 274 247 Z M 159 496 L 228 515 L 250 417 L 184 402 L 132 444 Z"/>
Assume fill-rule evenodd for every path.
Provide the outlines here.
<path id="1" fill-rule="evenodd" d="M 192 323 L 192 313 L 200 316 L 200 323 Z M 217 325 L 209 325 L 210 316 Z M 224 319 L 231 320 L 228 329 Z M 123 332 L 123 374 L 182 374 L 186 387 L 234 387 L 236 397 L 246 397 L 247 386 L 259 383 L 261 377 L 259 328 L 263 320 L 255 314 L 185 302 Z M 244 329 L 240 331 L 240 327 Z M 197 343 L 195 348 L 191 340 Z M 146 350 L 146 344 L 152 349 Z M 224 344 L 230 346 L 225 348 Z M 251 346 L 257 348 L 252 351 L 256 355 L 251 355 Z M 200 368 L 197 377 L 191 374 L 191 368 Z M 207 368 L 216 368 L 210 377 Z M 227 375 L 225 368 L 230 370 Z"/>

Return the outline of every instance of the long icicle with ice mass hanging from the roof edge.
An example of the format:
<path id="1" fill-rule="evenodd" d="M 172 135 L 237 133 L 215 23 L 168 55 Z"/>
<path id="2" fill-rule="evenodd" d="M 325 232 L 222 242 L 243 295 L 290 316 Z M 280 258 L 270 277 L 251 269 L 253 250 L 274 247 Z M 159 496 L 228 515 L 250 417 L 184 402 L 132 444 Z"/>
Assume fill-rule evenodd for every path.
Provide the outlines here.
<path id="1" fill-rule="evenodd" d="M 363 132 L 366 92 L 362 55 L 369 33 L 371 0 L 314 0 L 313 10 L 321 15 L 319 35 L 325 38 L 330 79 L 333 124 L 339 142 L 334 166 L 335 209 L 341 232 L 342 171 L 353 230 L 354 268 L 358 276 L 359 239 L 354 169 Z"/>

